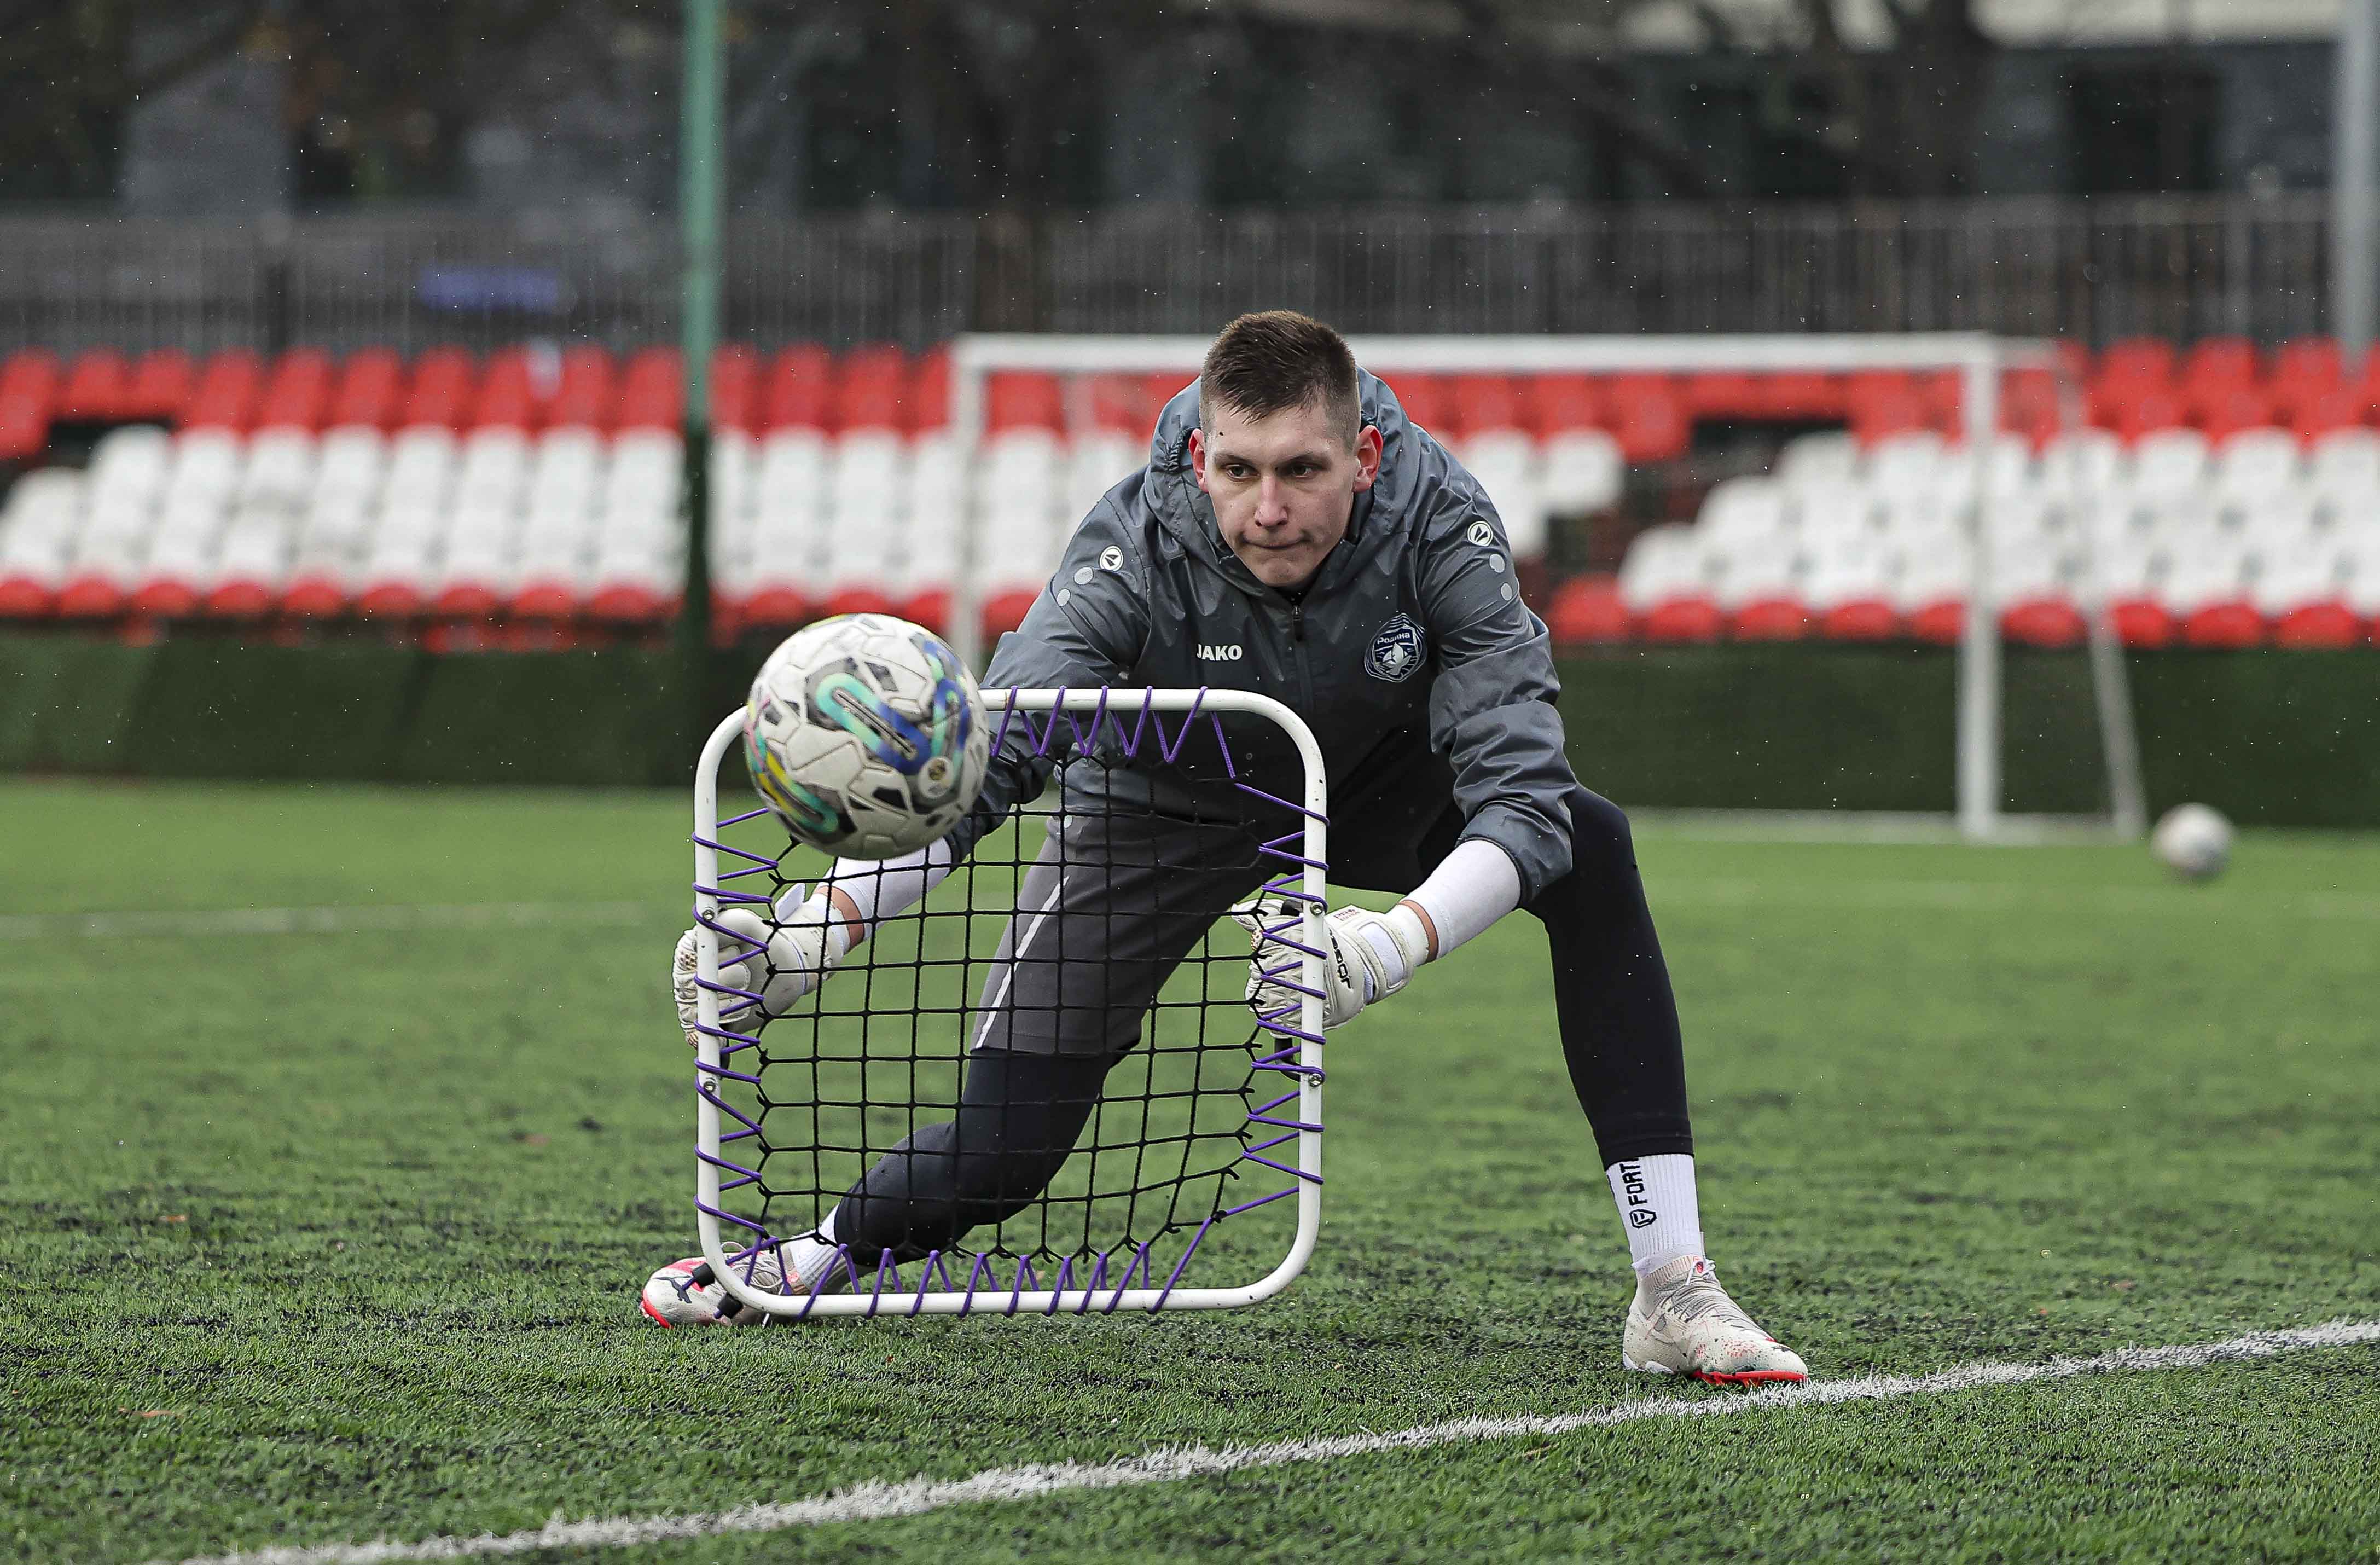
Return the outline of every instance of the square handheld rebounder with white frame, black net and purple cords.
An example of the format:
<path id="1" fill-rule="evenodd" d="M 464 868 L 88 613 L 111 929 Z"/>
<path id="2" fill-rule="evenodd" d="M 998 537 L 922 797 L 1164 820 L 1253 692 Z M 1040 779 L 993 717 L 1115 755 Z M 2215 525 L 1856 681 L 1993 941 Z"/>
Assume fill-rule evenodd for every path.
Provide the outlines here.
<path id="1" fill-rule="evenodd" d="M 719 915 L 752 908 L 769 917 L 826 860 L 793 846 L 769 810 L 721 815 L 719 767 L 745 717 L 731 712 L 712 729 L 693 798 L 702 1255 L 738 1305 L 795 1320 L 1221 1310 L 1271 1298 L 1297 1279 L 1321 1232 L 1321 748 L 1297 712 L 1247 691 L 985 691 L 985 710 L 995 753 L 1014 738 L 1059 762 L 1061 784 L 1014 808 L 919 908 L 881 919 L 809 996 L 762 1022 L 721 1020 L 721 993 L 743 993 L 721 984 L 721 962 L 750 955 L 752 943 Z M 1254 781 L 1252 738 L 1295 753 L 1295 796 Z M 1050 848 L 1061 886 L 1069 872 L 1100 869 L 1069 853 L 1081 836 L 1071 827 L 1097 808 L 1085 800 L 1104 796 L 1069 774 L 1121 765 L 1200 769 L 1209 796 L 1235 800 L 1228 817 L 1169 815 L 1166 829 L 1178 843 L 1185 824 L 1214 827 L 1202 838 L 1214 862 L 1288 905 L 1264 927 L 1266 969 L 1299 991 L 1295 1012 L 1252 1015 L 1242 996 L 1250 939 L 1223 917 L 1228 908 L 1171 893 L 1169 912 L 1204 934 L 1126 1024 L 1133 1046 L 1116 1055 L 1073 1153 L 1035 1203 L 904 1262 L 881 1253 L 866 1265 L 838 1248 L 814 1289 L 757 1282 L 754 1262 L 814 1234 L 854 1177 L 921 1124 L 954 1117 L 962 1067 L 981 1058 L 990 1031 L 985 1017 L 1019 1003 L 1007 977 L 1033 924 L 1052 910 L 1066 919 L 1057 891 L 1026 905 L 1035 853 L 1064 838 Z M 1154 896 L 1161 905 L 1169 893 Z M 988 955 L 1009 927 L 1028 934 L 1014 950 L 997 946 L 1002 972 Z M 1095 960 L 1069 958 L 1064 929 L 1054 941 L 1054 965 Z"/>

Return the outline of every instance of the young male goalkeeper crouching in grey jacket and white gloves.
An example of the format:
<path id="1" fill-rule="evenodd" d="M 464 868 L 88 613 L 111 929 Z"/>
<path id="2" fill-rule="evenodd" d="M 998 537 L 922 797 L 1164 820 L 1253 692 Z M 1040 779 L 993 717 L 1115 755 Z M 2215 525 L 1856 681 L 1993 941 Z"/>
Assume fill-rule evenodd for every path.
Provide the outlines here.
<path id="1" fill-rule="evenodd" d="M 1637 1272 L 1623 1363 L 1733 1384 L 1804 1377 L 1704 1260 L 1678 1008 L 1628 819 L 1571 777 L 1547 634 L 1514 586 L 1504 526 L 1328 326 L 1276 310 L 1223 329 L 1200 384 L 1159 417 L 1150 464 L 1076 529 L 985 679 L 1100 684 L 1264 691 L 1314 729 L 1330 772 L 1330 881 L 1409 893 L 1390 912 L 1330 912 L 1326 1027 L 1390 1000 L 1507 912 L 1535 915 L 1561 1050 Z M 1264 777 L 1278 762 L 1247 765 Z M 769 1015 L 788 1008 L 1047 772 L 1012 743 L 952 838 L 907 862 L 838 865 L 769 924 L 726 915 L 769 960 L 724 981 L 759 991 Z M 838 1243 L 866 1272 L 1033 1201 L 1166 974 L 1264 879 L 1252 855 L 1211 862 L 1192 846 L 1211 834 L 1183 827 L 1247 812 L 1216 781 L 1071 765 L 1064 784 L 1071 808 L 1019 896 L 1033 912 L 1009 924 L 985 981 L 957 1120 L 902 1141 L 819 1234 L 785 1246 L 804 1289 Z M 1271 791 L 1295 798 L 1295 772 Z M 1292 996 L 1264 972 L 1285 962 L 1259 917 L 1242 912 L 1257 936 L 1250 1003 L 1269 1010 Z M 674 979 L 693 1027 L 693 934 Z M 719 1320 L 721 1301 L 695 1260 L 643 1293 L 664 1324 Z"/>

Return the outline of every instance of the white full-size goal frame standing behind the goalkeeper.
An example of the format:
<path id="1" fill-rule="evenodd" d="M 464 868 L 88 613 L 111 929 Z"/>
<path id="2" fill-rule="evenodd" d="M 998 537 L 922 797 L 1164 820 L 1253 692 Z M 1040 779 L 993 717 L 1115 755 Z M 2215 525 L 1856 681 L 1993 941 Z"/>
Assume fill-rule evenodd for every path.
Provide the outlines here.
<path id="1" fill-rule="evenodd" d="M 2009 369 L 2049 369 L 2061 384 L 2061 422 L 2073 424 L 2075 398 L 2056 348 L 2030 338 L 1999 338 L 1980 331 L 1942 333 L 1778 333 L 1778 336 L 1352 336 L 1347 345 L 1366 369 L 1395 376 L 1414 374 L 1695 374 L 1714 372 L 1821 372 L 1914 369 L 1954 372 L 1961 381 L 1961 426 L 1999 429 L 1999 381 Z M 1061 336 L 1061 333 L 966 333 L 952 343 L 950 412 L 959 472 L 973 472 L 976 450 L 985 438 L 985 384 L 1000 369 L 1040 369 L 1050 374 L 1130 374 L 1178 372 L 1195 376 L 1207 357 L 1209 338 L 1200 336 Z M 1992 607 L 1992 550 L 1987 531 L 1994 524 L 1985 505 L 1990 493 L 1990 441 L 1968 441 L 1975 462 L 1975 550 L 1968 581 L 1968 612 L 1959 638 L 1959 757 L 1956 827 L 1968 841 L 2023 841 L 2037 836 L 2042 817 L 2011 817 L 2002 810 L 2002 636 Z M 978 519 L 973 486 L 962 486 L 959 560 L 950 596 L 952 648 L 969 667 L 983 669 L 983 607 L 978 596 Z M 2085 529 L 2090 567 L 2097 574 L 2099 548 Z M 2116 836 L 2137 838 L 2147 829 L 2147 800 L 2140 784 L 2140 736 L 2123 667 L 2123 648 L 2102 600 L 2087 605 L 2090 669 L 2094 712 L 2099 719 L 2102 762 L 2106 769 L 2109 815 L 2080 817 L 2109 827 Z M 2033 829 L 2028 829 L 2033 827 Z"/>

